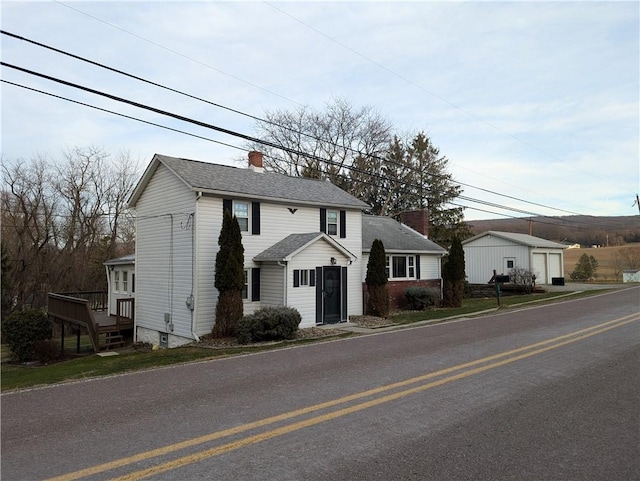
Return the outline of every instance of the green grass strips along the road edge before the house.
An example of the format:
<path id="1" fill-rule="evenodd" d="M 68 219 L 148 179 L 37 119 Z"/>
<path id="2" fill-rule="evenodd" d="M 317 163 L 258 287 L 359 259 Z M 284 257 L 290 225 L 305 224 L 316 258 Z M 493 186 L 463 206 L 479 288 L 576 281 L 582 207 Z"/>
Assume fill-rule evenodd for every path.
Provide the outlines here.
<path id="1" fill-rule="evenodd" d="M 577 293 L 571 298 L 593 295 L 604 292 L 594 290 Z M 515 304 L 525 304 L 532 302 L 553 302 L 565 298 L 561 292 L 532 294 L 520 296 L 504 296 L 501 298 L 503 309 Z M 463 302 L 463 306 L 457 309 L 435 309 L 432 311 L 403 312 L 392 317 L 398 324 L 410 324 L 425 320 L 447 319 L 455 316 L 473 315 L 487 309 L 495 309 L 497 302 L 495 298 L 468 299 Z M 350 333 L 345 333 L 350 335 Z M 185 346 L 174 349 L 152 350 L 121 350 L 117 356 L 100 357 L 93 353 L 78 356 L 70 360 L 55 362 L 48 365 L 15 365 L 8 362 L 9 349 L 6 345 L 0 346 L 0 366 L 1 389 L 8 391 L 12 389 L 24 389 L 45 384 L 55 384 L 78 379 L 87 379 L 97 376 L 118 374 L 139 369 L 148 369 L 159 366 L 168 366 L 186 362 L 194 362 L 206 359 L 228 357 L 248 352 L 258 352 L 263 350 L 278 349 L 282 346 L 315 342 L 314 340 L 286 341 L 282 343 L 267 344 L 253 347 L 229 347 L 210 349 L 204 347 Z M 87 341 L 88 343 L 88 341 Z M 75 342 L 65 340 L 67 352 L 75 350 Z M 84 344 L 83 344 L 84 347 Z"/>

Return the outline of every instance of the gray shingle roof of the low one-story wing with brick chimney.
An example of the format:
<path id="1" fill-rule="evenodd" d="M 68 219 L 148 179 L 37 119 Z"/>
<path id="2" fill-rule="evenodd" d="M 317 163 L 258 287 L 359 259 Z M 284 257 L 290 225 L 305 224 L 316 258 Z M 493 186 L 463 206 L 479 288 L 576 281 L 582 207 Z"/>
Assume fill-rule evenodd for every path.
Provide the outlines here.
<path id="1" fill-rule="evenodd" d="M 362 216 L 362 250 L 369 251 L 375 239 L 380 239 L 385 251 L 389 252 L 429 252 L 445 254 L 447 251 L 433 241 L 393 220 L 391 217 Z"/>

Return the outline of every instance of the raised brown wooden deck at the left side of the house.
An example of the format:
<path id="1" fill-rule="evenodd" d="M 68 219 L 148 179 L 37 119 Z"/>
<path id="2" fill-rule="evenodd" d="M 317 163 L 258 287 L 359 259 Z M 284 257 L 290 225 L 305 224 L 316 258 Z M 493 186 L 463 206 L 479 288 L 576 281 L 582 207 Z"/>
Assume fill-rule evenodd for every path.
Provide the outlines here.
<path id="1" fill-rule="evenodd" d="M 89 335 L 94 352 L 124 347 L 133 340 L 134 303 L 131 297 L 116 299 L 116 313 L 108 312 L 106 291 L 49 293 L 49 317 L 60 326 L 60 349 L 64 352 L 65 329 Z"/>

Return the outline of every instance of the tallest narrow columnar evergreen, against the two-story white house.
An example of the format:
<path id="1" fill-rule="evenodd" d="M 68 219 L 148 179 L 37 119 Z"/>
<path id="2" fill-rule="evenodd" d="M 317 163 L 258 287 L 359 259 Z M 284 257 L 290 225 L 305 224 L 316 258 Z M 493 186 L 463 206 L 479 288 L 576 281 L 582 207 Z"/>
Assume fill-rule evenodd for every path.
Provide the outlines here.
<path id="1" fill-rule="evenodd" d="M 242 318 L 242 289 L 244 287 L 244 247 L 238 219 L 226 210 L 218 238 L 220 250 L 216 255 L 215 288 L 218 290 L 214 337 L 233 336 L 236 323 Z"/>

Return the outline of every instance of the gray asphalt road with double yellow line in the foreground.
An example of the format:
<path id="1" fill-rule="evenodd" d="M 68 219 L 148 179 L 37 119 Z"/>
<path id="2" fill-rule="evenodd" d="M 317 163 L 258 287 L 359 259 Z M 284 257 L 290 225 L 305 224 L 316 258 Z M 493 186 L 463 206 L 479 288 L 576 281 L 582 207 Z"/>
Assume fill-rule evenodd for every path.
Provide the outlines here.
<path id="1" fill-rule="evenodd" d="M 640 479 L 640 288 L 4 394 L 2 480 Z"/>

